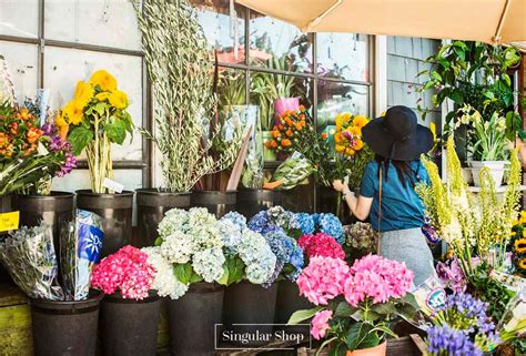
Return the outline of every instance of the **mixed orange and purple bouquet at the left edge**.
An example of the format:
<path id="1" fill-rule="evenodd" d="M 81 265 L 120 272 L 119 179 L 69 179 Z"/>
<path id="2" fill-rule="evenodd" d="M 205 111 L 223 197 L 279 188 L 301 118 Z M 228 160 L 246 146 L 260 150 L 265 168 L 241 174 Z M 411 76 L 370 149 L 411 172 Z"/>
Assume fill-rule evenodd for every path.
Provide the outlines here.
<path id="1" fill-rule="evenodd" d="M 0 195 L 49 195 L 51 179 L 77 166 L 61 122 L 41 125 L 38 116 L 28 108 L 0 104 Z"/>

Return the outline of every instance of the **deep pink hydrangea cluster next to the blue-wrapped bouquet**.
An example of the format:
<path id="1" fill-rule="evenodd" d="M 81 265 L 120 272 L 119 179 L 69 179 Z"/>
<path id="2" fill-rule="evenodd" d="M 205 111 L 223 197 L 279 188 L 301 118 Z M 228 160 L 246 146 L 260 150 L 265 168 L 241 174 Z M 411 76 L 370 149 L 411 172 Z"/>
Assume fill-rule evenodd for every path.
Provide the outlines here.
<path id="1" fill-rule="evenodd" d="M 146 261 L 146 253 L 124 246 L 93 268 L 91 286 L 105 294 L 120 289 L 123 298 L 143 299 L 148 297 L 155 276 L 155 269 Z"/>

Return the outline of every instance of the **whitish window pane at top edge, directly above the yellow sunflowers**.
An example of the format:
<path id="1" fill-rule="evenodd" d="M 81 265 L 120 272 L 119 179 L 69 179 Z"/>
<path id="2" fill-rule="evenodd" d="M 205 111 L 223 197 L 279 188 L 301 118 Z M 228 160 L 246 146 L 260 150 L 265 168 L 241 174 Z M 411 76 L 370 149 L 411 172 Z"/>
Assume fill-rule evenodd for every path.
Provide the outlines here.
<path id="1" fill-rule="evenodd" d="M 45 0 L 47 39 L 140 50 L 136 17 L 129 0 Z"/>

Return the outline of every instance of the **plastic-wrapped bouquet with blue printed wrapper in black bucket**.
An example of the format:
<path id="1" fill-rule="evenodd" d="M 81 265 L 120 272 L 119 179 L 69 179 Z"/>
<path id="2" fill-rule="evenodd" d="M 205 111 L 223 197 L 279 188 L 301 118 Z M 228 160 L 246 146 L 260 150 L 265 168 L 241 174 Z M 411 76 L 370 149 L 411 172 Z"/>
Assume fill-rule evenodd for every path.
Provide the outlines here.
<path id="1" fill-rule="evenodd" d="M 67 301 L 81 301 L 90 292 L 93 266 L 99 262 L 104 233 L 102 217 L 77 210 L 77 220 L 60 236 L 60 265 Z"/>

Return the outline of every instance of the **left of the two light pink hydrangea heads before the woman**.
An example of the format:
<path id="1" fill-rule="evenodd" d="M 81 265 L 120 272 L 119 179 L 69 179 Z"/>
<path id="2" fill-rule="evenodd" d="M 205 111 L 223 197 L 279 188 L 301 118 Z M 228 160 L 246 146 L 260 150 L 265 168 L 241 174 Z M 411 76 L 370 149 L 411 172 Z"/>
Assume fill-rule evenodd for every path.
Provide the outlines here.
<path id="1" fill-rule="evenodd" d="M 300 294 L 315 305 L 326 305 L 341 295 L 348 275 L 347 264 L 340 258 L 314 256 L 297 277 Z"/>

